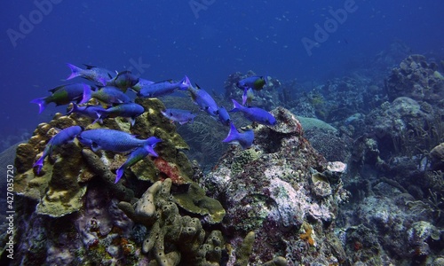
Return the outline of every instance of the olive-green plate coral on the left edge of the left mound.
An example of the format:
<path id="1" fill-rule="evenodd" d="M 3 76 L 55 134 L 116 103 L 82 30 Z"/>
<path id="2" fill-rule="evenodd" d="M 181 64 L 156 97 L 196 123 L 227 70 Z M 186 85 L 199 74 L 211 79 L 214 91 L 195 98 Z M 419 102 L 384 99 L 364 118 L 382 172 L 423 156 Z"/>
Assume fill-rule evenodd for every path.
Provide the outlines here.
<path id="1" fill-rule="evenodd" d="M 52 154 L 55 158 L 53 164 L 49 163 L 52 156 L 48 156 L 42 170 L 43 176 L 36 176 L 32 168 L 32 161 L 37 151 L 43 150 L 44 145 L 57 133 L 53 127 L 75 125 L 75 121 L 67 116 L 57 114 L 56 117 L 58 121 L 40 124 L 28 144 L 19 145 L 15 160 L 20 166 L 19 175 L 15 178 L 15 192 L 37 200 L 37 214 L 52 217 L 78 211 L 83 206 L 82 198 L 86 192 L 86 186 L 80 184 L 78 180 L 82 171 L 82 148 L 76 142 L 64 145 L 64 149 L 56 148 L 55 154 Z M 37 150 L 34 147 L 37 147 Z M 30 168 L 25 171 L 20 162 Z"/>

